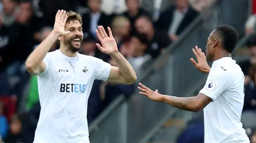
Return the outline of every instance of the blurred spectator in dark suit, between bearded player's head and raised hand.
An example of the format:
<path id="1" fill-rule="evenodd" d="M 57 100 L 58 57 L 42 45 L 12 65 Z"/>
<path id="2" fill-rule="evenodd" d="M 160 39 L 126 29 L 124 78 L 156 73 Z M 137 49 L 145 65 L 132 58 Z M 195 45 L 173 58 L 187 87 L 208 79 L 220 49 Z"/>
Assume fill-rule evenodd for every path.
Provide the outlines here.
<path id="1" fill-rule="evenodd" d="M 98 25 L 102 25 L 104 28 L 110 26 L 112 16 L 108 16 L 104 14 L 100 10 L 101 0 L 88 0 L 88 6 L 90 11 L 86 14 L 84 14 L 83 17 L 83 32 L 84 35 L 92 34 L 95 39 L 97 39 L 96 36 L 96 29 L 98 28 Z M 105 29 L 108 31 L 107 29 Z"/>

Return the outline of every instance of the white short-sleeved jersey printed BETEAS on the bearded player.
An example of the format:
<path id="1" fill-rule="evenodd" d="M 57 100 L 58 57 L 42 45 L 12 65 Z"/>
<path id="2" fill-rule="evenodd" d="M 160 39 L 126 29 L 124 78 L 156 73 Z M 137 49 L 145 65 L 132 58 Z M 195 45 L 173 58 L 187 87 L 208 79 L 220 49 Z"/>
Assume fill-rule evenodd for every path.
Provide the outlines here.
<path id="1" fill-rule="evenodd" d="M 95 79 L 108 79 L 111 65 L 95 57 L 47 53 L 38 75 L 41 104 L 34 143 L 89 143 L 87 105 Z"/>

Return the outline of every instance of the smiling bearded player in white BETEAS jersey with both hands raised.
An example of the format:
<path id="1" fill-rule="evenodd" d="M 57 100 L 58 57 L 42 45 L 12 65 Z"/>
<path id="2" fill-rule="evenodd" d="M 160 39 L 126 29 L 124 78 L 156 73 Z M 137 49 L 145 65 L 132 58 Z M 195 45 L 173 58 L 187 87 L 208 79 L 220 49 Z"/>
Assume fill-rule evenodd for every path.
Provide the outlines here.
<path id="1" fill-rule="evenodd" d="M 54 29 L 30 54 L 28 72 L 38 76 L 41 104 L 34 143 L 89 143 L 87 103 L 95 79 L 132 84 L 136 74 L 118 52 L 116 41 L 98 26 L 98 49 L 116 61 L 112 67 L 95 57 L 78 53 L 83 39 L 82 17 L 75 12 L 58 10 Z M 48 53 L 59 41 L 60 49 Z"/>

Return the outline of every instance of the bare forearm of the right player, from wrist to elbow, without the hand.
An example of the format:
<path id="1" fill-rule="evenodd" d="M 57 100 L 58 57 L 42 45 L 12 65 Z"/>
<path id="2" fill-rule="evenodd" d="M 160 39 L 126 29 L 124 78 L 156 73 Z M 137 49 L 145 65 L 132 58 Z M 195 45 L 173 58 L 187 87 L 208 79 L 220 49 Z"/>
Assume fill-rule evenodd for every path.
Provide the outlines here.
<path id="1" fill-rule="evenodd" d="M 176 96 L 168 96 L 164 95 L 162 97 L 162 102 L 167 103 L 171 106 L 176 108 L 191 111 L 191 112 L 198 112 L 202 109 L 198 108 L 197 106 L 197 99 L 195 97 L 176 97 Z"/>

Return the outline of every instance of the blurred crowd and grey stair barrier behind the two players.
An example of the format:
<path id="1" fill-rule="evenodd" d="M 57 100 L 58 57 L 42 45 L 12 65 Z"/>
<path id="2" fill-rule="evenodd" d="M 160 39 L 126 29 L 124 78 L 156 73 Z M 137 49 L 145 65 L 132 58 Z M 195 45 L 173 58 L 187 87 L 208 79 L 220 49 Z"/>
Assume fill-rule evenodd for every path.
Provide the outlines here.
<path id="1" fill-rule="evenodd" d="M 111 27 L 138 82 L 162 94 L 194 96 L 207 74 L 190 63 L 216 26 L 236 28 L 233 58 L 245 77 L 242 122 L 256 143 L 256 0 L 0 0 L 0 135 L 32 143 L 40 114 L 37 77 L 24 66 L 52 31 L 59 9 L 82 15 L 85 55 L 116 63 L 96 48 L 98 25 Z M 58 49 L 56 43 L 50 51 Z M 211 63 L 209 63 L 211 65 Z M 132 85 L 95 80 L 88 101 L 91 143 L 204 143 L 203 112 L 178 110 L 140 96 Z"/>

